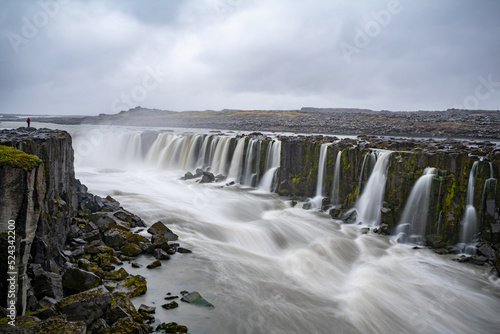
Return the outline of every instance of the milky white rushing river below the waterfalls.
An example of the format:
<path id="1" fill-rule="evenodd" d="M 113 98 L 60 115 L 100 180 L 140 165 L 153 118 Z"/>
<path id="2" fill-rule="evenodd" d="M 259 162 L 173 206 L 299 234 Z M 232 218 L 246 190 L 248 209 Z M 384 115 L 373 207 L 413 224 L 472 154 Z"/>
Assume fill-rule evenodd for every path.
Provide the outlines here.
<path id="1" fill-rule="evenodd" d="M 148 224 L 161 220 L 193 251 L 153 270 L 124 265 L 148 280 L 147 294 L 133 302 L 156 306 L 162 322 L 190 333 L 500 332 L 500 282 L 491 268 L 363 234 L 262 190 L 181 181 L 185 171 L 113 158 L 120 133 L 138 130 L 108 128 L 114 135 L 83 154 L 79 140 L 92 128 L 67 128 L 84 157 L 76 176 L 90 192 L 113 196 Z M 215 308 L 160 307 L 168 292 L 182 290 Z"/>

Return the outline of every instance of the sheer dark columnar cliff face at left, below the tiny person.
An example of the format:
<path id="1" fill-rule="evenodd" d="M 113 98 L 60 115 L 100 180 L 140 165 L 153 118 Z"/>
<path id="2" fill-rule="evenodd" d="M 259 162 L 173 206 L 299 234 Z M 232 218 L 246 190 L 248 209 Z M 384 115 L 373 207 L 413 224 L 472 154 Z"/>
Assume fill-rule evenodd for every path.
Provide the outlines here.
<path id="1" fill-rule="evenodd" d="M 71 136 L 65 131 L 27 128 L 1 131 L 0 145 L 41 160 L 32 166 L 22 161 L 4 161 L 0 166 L 0 228 L 7 231 L 8 221 L 15 221 L 17 309 L 23 314 L 28 259 L 49 271 L 64 262 L 61 251 L 77 210 L 73 148 Z M 4 233 L 2 252 L 7 249 L 6 243 Z M 0 301 L 5 306 L 7 259 L 3 260 L 2 254 Z"/>

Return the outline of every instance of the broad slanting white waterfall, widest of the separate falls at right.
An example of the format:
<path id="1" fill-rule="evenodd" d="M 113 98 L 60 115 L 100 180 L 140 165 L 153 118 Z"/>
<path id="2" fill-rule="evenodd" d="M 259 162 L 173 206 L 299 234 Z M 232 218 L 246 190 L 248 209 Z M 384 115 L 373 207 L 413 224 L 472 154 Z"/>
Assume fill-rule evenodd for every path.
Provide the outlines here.
<path id="1" fill-rule="evenodd" d="M 391 151 L 377 151 L 378 159 L 361 197 L 356 201 L 357 222 L 379 226 Z"/>

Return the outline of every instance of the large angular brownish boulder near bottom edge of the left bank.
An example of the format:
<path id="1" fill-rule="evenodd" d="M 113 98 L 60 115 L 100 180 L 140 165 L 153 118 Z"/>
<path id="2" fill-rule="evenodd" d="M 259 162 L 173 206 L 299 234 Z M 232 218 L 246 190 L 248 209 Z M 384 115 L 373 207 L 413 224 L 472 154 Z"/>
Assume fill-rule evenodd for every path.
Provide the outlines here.
<path id="1" fill-rule="evenodd" d="M 59 304 L 69 321 L 84 321 L 87 326 L 102 318 L 111 307 L 111 294 L 104 286 L 64 298 Z"/>

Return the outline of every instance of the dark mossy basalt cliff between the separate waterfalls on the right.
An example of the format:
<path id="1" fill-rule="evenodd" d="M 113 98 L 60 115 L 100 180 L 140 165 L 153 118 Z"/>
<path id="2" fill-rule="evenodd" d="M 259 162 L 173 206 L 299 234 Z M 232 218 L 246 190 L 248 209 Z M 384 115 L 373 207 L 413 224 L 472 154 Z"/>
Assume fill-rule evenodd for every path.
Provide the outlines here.
<path id="1" fill-rule="evenodd" d="M 444 140 L 383 139 L 360 136 L 357 140 L 322 136 L 281 137 L 282 157 L 278 193 L 291 197 L 312 197 L 317 182 L 318 157 L 322 143 L 331 142 L 327 152 L 325 188 L 330 197 L 334 164 L 340 159 L 339 208 L 335 218 L 344 218 L 362 193 L 373 169 L 376 152 L 392 151 L 381 224 L 393 231 L 412 187 L 427 167 L 437 168 L 432 181 L 431 205 L 426 235 L 438 235 L 447 244 L 459 242 L 461 221 L 466 206 L 469 173 L 478 161 L 474 188 L 474 206 L 478 211 L 480 237 L 500 242 L 499 194 L 500 150 L 489 142 L 464 143 Z M 467 145 L 466 145 L 467 144 Z M 373 155 L 373 158 L 370 158 Z M 368 159 L 367 159 L 368 158 Z M 364 163 L 364 165 L 363 165 Z M 325 199 L 324 204 L 329 203 Z"/>

